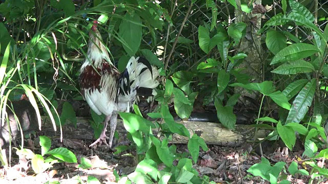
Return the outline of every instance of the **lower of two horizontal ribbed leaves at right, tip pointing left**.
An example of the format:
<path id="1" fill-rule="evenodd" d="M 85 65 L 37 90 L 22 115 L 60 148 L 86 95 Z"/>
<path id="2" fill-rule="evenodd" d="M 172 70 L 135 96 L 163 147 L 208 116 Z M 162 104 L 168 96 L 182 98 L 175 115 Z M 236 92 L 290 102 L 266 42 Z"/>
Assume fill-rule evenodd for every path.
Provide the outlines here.
<path id="1" fill-rule="evenodd" d="M 315 71 L 315 68 L 310 62 L 304 60 L 296 60 L 296 61 L 283 63 L 282 65 L 278 66 L 275 70 L 271 72 L 281 75 L 290 75 L 290 74 L 309 73 L 313 71 Z"/>

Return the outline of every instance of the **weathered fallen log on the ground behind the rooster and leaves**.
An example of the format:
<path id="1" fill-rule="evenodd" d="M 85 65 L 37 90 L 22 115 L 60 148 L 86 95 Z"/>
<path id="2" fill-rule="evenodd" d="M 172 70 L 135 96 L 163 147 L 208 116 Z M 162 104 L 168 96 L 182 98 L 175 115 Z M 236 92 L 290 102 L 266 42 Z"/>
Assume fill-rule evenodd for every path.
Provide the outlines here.
<path id="1" fill-rule="evenodd" d="M 43 118 L 42 132 L 50 137 L 59 137 L 60 129 L 57 127 L 57 131 L 54 132 L 53 125 L 49 118 Z M 241 146 L 253 136 L 255 128 L 249 125 L 236 125 L 235 130 L 230 130 L 223 127 L 220 123 L 211 122 L 195 122 L 195 121 L 178 121 L 185 125 L 189 130 L 190 135 L 193 135 L 193 131 L 201 132 L 200 137 L 205 141 L 206 144 L 220 145 L 220 146 Z M 72 124 L 66 124 L 62 127 L 64 139 L 80 139 L 80 140 L 93 140 L 93 130 L 90 126 L 87 118 L 77 118 L 76 129 Z M 109 133 L 108 126 L 108 133 Z M 122 120 L 117 121 L 116 131 L 119 137 L 126 139 L 127 131 L 123 125 Z M 158 135 L 158 129 L 153 129 L 153 134 Z M 257 137 L 265 137 L 265 131 L 259 130 Z M 181 136 L 178 134 L 173 135 L 174 144 L 186 144 L 188 137 Z M 172 142 L 171 142 L 172 143 Z"/>

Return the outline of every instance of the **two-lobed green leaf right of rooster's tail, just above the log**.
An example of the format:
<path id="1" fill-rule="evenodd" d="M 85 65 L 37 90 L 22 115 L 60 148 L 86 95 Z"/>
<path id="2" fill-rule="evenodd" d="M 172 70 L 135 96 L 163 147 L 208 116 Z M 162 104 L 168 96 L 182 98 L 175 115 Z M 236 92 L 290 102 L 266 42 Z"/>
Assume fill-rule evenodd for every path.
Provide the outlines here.
<path id="1" fill-rule="evenodd" d="M 198 92 L 193 92 L 188 96 L 188 100 L 191 104 L 183 103 L 182 101 L 180 101 L 180 98 L 174 97 L 174 109 L 181 119 L 190 117 L 190 114 L 193 111 L 194 102 L 197 94 Z"/>

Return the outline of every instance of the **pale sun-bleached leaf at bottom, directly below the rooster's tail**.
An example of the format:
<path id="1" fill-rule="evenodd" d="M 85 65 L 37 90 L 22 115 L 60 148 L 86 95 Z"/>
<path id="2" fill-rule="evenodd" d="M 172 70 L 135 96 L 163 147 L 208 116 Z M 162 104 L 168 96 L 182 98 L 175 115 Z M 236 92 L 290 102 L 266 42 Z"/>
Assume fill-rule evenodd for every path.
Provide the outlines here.
<path id="1" fill-rule="evenodd" d="M 149 158 L 145 158 L 144 160 L 142 160 L 137 165 L 135 172 L 144 173 L 146 175 L 148 174 L 154 180 L 157 180 L 157 173 L 158 173 L 157 164 Z"/>

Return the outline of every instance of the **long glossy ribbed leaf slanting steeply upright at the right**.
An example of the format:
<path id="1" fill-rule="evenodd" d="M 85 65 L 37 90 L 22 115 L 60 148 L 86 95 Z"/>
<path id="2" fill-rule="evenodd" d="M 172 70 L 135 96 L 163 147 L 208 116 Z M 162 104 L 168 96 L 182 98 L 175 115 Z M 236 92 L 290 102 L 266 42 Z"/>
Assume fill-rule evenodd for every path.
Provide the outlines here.
<path id="1" fill-rule="evenodd" d="M 289 111 L 286 123 L 299 123 L 308 112 L 312 104 L 313 96 L 316 90 L 316 79 L 308 82 L 299 94 L 296 96 L 292 108 Z"/>

